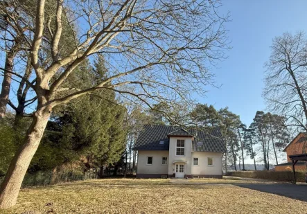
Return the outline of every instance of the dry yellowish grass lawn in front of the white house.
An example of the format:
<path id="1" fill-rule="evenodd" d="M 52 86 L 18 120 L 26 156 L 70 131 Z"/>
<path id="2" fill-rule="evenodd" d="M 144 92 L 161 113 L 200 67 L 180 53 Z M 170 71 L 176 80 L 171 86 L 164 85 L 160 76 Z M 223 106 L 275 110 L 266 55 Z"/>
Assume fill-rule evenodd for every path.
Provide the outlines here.
<path id="1" fill-rule="evenodd" d="M 307 213 L 307 202 L 237 182 L 255 181 L 103 179 L 24 188 L 17 205 L 0 213 Z"/>

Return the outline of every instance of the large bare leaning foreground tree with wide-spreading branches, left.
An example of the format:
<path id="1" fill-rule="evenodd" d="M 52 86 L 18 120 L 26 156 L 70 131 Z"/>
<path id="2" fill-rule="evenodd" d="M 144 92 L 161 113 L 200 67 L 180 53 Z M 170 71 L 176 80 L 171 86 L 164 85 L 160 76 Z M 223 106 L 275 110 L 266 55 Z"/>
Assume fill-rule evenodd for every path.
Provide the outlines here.
<path id="1" fill-rule="evenodd" d="M 11 1 L 7 2 L 10 7 Z M 35 91 L 37 107 L 24 143 L 1 184 L 0 208 L 16 203 L 54 107 L 100 89 L 137 97 L 148 106 L 161 100 L 179 100 L 174 97 L 185 99 L 211 83 L 207 63 L 222 59 L 227 48 L 223 28 L 227 17 L 218 15 L 217 1 L 58 0 L 51 21 L 45 17 L 45 5 L 45 0 L 37 1 L 35 24 L 27 28 L 34 29 L 34 33 L 22 32 L 30 44 L 35 82 L 27 84 Z M 67 54 L 62 53 L 64 22 L 72 29 L 74 44 Z M 15 24 L 19 28 L 27 23 Z M 51 37 L 50 44 L 46 37 Z M 85 59 L 98 53 L 105 57 L 107 79 L 87 89 L 78 89 L 78 85 L 63 87 Z M 19 77 L 24 80 L 22 75 Z"/>

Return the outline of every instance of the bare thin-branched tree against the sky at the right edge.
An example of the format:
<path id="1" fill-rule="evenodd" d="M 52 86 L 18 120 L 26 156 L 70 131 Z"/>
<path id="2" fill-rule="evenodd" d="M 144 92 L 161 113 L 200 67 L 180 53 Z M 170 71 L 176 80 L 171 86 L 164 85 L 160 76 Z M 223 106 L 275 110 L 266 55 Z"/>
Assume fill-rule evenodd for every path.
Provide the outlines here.
<path id="1" fill-rule="evenodd" d="M 307 131 L 306 36 L 283 33 L 273 39 L 271 50 L 263 96 L 273 112 L 286 116 L 288 125 Z"/>

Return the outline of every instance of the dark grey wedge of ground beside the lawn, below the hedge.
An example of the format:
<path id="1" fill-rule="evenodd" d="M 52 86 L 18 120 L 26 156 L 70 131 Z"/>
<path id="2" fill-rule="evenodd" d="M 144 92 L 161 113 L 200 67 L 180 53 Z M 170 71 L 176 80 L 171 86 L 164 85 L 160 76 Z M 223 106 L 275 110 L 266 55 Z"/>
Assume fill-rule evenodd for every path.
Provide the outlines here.
<path id="1" fill-rule="evenodd" d="M 307 185 L 294 184 L 234 184 L 235 186 L 290 197 L 307 202 Z"/>

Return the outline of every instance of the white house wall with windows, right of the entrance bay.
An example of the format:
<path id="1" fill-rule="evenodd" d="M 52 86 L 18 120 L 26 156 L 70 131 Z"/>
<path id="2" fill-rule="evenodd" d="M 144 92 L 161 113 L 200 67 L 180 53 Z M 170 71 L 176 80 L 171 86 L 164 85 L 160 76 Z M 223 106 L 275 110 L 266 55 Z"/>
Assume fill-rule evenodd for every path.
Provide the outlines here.
<path id="1" fill-rule="evenodd" d="M 194 157 L 198 157 L 198 166 L 193 166 Z M 208 157 L 213 158 L 213 166 L 208 166 Z M 191 175 L 222 175 L 222 153 L 192 152 Z"/>

